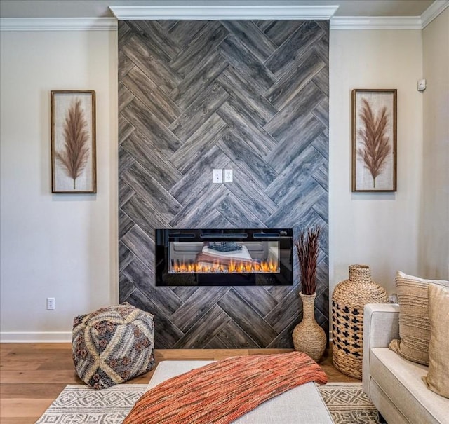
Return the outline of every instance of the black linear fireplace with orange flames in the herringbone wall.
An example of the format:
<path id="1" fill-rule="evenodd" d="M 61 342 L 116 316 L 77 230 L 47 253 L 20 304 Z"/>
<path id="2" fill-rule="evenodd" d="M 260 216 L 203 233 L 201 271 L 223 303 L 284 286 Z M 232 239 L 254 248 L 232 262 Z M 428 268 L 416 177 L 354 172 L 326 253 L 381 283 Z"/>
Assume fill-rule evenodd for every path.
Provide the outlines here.
<path id="1" fill-rule="evenodd" d="M 156 230 L 156 285 L 292 285 L 292 229 Z"/>

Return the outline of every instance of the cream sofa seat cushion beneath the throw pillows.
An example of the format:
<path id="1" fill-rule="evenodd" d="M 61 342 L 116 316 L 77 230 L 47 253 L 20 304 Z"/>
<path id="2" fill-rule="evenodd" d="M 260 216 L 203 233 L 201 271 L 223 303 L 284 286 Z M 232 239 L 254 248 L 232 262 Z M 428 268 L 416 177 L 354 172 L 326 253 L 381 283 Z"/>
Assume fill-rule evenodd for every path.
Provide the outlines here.
<path id="1" fill-rule="evenodd" d="M 375 380 L 403 416 L 415 423 L 447 423 L 449 399 L 428 390 L 422 377 L 427 367 L 404 360 L 388 348 L 370 353 L 371 378 Z"/>

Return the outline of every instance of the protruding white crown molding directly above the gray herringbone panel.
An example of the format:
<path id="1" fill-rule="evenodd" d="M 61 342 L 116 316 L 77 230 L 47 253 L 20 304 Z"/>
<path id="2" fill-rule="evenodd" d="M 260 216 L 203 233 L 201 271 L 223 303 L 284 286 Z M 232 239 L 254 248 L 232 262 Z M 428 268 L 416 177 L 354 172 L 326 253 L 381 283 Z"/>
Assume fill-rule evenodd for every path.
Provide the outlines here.
<path id="1" fill-rule="evenodd" d="M 118 20 L 330 19 L 338 6 L 109 6 Z"/>

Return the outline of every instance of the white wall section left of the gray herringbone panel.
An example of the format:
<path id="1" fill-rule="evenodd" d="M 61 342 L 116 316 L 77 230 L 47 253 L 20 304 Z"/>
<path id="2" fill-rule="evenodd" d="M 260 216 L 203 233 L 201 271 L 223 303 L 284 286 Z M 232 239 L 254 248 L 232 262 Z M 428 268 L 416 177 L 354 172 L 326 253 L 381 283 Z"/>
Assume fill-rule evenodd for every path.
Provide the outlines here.
<path id="1" fill-rule="evenodd" d="M 75 315 L 118 298 L 116 32 L 0 42 L 1 338 L 69 339 Z M 51 194 L 50 90 L 71 89 L 96 92 L 96 195 Z"/>

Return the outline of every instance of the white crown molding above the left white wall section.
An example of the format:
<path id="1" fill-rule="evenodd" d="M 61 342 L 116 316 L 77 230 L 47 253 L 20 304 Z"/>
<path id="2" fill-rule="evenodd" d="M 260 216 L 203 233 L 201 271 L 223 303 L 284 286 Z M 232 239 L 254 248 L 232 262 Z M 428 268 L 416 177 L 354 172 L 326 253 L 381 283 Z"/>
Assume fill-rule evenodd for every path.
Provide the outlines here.
<path id="1" fill-rule="evenodd" d="M 116 31 L 115 18 L 0 18 L 0 31 Z"/>

